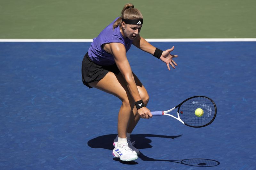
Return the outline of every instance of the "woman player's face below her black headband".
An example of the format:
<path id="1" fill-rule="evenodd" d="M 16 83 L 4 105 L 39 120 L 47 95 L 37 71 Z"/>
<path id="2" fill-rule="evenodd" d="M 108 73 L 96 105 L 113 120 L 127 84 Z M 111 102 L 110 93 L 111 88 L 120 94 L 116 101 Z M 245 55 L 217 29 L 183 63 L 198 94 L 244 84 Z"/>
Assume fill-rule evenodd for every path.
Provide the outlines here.
<path id="1" fill-rule="evenodd" d="M 142 25 L 132 25 L 132 24 L 124 24 L 124 36 L 128 37 L 130 40 L 135 40 L 135 38 L 140 34 L 140 29 Z"/>

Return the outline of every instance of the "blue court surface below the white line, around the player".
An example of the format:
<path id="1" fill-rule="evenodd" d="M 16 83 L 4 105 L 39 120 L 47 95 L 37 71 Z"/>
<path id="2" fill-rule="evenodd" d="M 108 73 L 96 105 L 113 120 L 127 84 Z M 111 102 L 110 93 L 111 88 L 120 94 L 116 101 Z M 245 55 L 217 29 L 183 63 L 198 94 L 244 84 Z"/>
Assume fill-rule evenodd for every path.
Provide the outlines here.
<path id="1" fill-rule="evenodd" d="M 168 71 L 152 55 L 128 52 L 150 95 L 148 108 L 208 96 L 218 110 L 211 125 L 190 128 L 168 116 L 140 120 L 131 136 L 140 157 L 120 162 L 112 141 L 121 102 L 81 80 L 90 43 L 2 42 L 0 169 L 255 169 L 256 42 L 152 44 L 174 45 L 179 57 Z"/>

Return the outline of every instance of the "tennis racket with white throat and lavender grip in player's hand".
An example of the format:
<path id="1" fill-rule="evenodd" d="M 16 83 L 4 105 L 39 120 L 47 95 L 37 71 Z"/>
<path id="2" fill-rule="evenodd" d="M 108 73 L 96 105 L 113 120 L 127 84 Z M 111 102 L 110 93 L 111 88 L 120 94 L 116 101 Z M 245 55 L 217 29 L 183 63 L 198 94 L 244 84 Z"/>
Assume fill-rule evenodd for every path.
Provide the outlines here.
<path id="1" fill-rule="evenodd" d="M 176 108 L 178 108 L 178 111 L 177 111 L 178 117 L 167 114 Z M 201 108 L 204 111 L 204 114 L 201 117 L 197 117 L 195 115 L 195 110 L 197 108 Z M 208 97 L 193 96 L 184 100 L 178 106 L 173 107 L 170 110 L 155 111 L 155 112 L 151 112 L 151 114 L 153 116 L 168 115 L 177 119 L 178 121 L 180 121 L 181 123 L 187 126 L 190 126 L 193 128 L 201 128 L 213 122 L 217 114 L 217 107 L 214 101 Z"/>

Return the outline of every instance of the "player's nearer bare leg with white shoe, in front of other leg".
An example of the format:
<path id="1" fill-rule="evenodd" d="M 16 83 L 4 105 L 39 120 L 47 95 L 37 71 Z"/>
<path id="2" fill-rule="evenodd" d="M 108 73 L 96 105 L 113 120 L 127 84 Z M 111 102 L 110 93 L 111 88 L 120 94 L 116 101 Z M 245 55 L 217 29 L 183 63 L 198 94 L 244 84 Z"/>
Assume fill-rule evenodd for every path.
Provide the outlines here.
<path id="1" fill-rule="evenodd" d="M 124 161 L 138 159 L 137 153 L 129 148 L 126 139 L 126 131 L 132 114 L 132 108 L 134 107 L 134 101 L 123 76 L 121 74 L 116 75 L 112 72 L 108 72 L 100 81 L 89 83 L 89 85 L 113 94 L 122 101 L 117 123 L 118 142 L 112 152 L 113 156 Z"/>

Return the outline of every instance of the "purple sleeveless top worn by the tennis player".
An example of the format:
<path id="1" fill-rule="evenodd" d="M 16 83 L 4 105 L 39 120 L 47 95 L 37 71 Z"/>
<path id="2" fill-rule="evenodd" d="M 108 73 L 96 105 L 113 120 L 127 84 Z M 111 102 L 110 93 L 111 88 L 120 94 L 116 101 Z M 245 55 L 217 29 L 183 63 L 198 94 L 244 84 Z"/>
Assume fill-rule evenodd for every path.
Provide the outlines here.
<path id="1" fill-rule="evenodd" d="M 91 43 L 91 47 L 88 50 L 88 55 L 94 63 L 99 65 L 112 65 L 115 63 L 113 55 L 107 53 L 102 48 L 103 44 L 110 42 L 124 44 L 126 52 L 131 48 L 132 40 L 127 37 L 123 37 L 122 33 L 120 32 L 120 26 L 114 28 L 113 30 L 113 24 L 118 18 L 116 18 L 111 24 L 104 28 L 98 37 L 92 40 L 93 42 Z"/>

